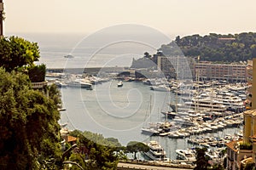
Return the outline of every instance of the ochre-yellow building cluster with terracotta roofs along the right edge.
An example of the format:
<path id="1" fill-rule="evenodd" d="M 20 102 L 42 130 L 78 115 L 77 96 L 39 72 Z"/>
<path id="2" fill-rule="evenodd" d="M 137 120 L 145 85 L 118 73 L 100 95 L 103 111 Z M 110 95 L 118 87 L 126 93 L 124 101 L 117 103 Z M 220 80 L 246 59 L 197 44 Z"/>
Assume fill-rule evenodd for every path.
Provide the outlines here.
<path id="1" fill-rule="evenodd" d="M 247 65 L 247 102 L 249 107 L 244 111 L 243 138 L 232 141 L 227 146 L 228 169 L 241 169 L 246 163 L 256 163 L 256 59 Z"/>

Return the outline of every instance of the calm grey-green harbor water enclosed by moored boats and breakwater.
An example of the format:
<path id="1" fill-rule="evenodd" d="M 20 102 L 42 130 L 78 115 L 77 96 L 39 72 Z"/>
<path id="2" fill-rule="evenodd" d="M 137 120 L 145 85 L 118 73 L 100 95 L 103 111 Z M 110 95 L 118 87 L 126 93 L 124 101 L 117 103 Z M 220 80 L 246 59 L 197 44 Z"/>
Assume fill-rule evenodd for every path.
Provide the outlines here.
<path id="1" fill-rule="evenodd" d="M 171 139 L 141 133 L 141 128 L 148 122 L 166 121 L 160 111 L 169 109 L 167 103 L 175 98 L 172 92 L 152 91 L 143 82 L 123 82 L 122 88 L 117 88 L 117 83 L 117 80 L 103 82 L 95 85 L 93 90 L 61 88 L 63 106 L 67 108 L 67 111 L 61 112 L 61 123 L 67 122 L 70 129 L 117 138 L 123 145 L 129 141 L 156 140 L 172 160 L 177 158 L 175 150 L 196 147 L 188 144 L 189 138 Z M 222 138 L 234 133 L 241 133 L 241 127 L 224 128 L 216 133 L 201 135 Z"/>

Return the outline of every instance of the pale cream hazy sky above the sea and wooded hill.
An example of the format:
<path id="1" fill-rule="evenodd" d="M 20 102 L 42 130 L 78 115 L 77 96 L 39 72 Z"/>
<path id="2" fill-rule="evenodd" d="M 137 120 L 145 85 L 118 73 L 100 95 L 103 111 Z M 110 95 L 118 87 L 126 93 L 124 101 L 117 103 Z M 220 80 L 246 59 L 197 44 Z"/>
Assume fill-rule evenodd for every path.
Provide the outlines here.
<path id="1" fill-rule="evenodd" d="M 4 31 L 92 33 L 140 24 L 165 34 L 256 31 L 255 0 L 3 0 Z"/>

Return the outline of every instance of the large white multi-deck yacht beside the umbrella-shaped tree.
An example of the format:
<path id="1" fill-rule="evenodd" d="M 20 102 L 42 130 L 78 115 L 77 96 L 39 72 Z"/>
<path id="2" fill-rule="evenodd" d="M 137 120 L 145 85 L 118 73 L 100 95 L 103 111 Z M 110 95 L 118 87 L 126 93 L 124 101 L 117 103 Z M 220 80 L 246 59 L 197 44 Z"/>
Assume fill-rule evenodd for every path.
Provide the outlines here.
<path id="1" fill-rule="evenodd" d="M 150 141 L 148 144 L 148 152 L 144 152 L 146 156 L 155 161 L 167 161 L 166 151 L 157 141 Z"/>

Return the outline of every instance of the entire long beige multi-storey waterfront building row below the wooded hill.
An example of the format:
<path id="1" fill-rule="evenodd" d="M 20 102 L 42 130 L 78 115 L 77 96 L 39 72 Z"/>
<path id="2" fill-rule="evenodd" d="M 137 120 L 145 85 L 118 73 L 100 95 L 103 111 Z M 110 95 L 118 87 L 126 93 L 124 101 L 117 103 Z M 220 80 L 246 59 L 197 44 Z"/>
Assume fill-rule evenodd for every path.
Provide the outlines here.
<path id="1" fill-rule="evenodd" d="M 178 65 L 177 65 L 178 63 Z M 228 82 L 247 82 L 247 64 L 218 64 L 210 61 L 200 61 L 200 57 L 165 57 L 159 56 L 158 69 L 166 76 L 180 79 L 199 77 L 203 80 L 224 80 Z M 196 73 L 196 74 L 195 74 Z"/>

